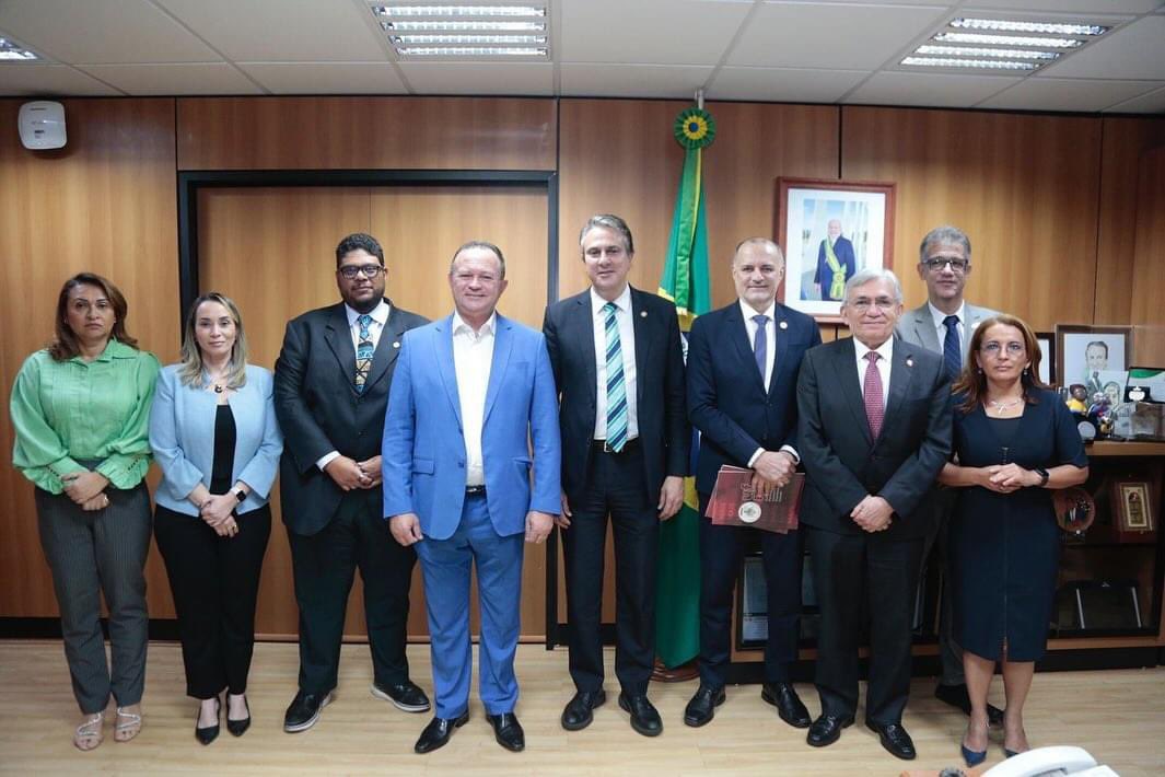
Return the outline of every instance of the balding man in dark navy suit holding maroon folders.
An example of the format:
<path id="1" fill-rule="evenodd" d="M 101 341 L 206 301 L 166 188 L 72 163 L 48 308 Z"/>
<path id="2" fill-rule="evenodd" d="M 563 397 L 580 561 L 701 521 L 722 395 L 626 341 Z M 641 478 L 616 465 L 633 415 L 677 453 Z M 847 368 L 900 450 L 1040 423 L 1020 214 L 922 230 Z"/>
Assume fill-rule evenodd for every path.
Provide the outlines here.
<path id="1" fill-rule="evenodd" d="M 732 277 L 739 299 L 696 319 L 689 337 L 687 417 L 700 430 L 696 490 L 700 500 L 700 687 L 684 722 L 704 726 L 725 700 L 732 643 L 732 595 L 749 542 L 760 539 L 768 589 L 769 640 L 761 698 L 790 726 L 806 728 L 790 664 L 797 659 L 802 549 L 798 534 L 713 525 L 708 499 L 722 465 L 749 467 L 754 482 L 784 486 L 797 451 L 797 374 L 821 342 L 817 323 L 776 302 L 784 277 L 781 248 L 765 238 L 736 247 Z"/>

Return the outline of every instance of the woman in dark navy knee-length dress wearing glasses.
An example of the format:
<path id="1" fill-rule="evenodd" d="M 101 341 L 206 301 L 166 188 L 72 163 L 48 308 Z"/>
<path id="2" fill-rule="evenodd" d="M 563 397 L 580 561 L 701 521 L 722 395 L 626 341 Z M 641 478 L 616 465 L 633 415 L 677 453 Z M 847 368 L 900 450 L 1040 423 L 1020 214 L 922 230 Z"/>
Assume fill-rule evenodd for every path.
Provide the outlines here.
<path id="1" fill-rule="evenodd" d="M 1082 483 L 1088 458 L 1075 422 L 1039 381 L 1039 345 L 1018 318 L 975 330 L 953 387 L 956 464 L 939 474 L 961 488 L 951 523 L 954 638 L 963 650 L 970 722 L 968 765 L 987 756 L 987 691 L 1003 664 L 1003 749 L 1028 749 L 1023 704 L 1044 655 L 1059 564 L 1052 489 Z"/>

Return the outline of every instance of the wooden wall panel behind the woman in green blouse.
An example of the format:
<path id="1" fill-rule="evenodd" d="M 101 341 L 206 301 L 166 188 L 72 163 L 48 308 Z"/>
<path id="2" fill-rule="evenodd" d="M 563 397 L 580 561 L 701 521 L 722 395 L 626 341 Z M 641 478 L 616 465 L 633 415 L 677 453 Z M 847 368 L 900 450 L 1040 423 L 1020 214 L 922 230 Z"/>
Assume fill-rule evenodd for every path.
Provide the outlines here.
<path id="1" fill-rule="evenodd" d="M 91 270 L 129 303 L 127 325 L 163 361 L 177 354 L 177 186 L 174 100 L 65 100 L 69 144 L 29 151 L 16 135 L 23 100 L 0 100 L 0 616 L 55 616 L 33 486 L 12 468 L 8 398 L 24 358 L 52 334 L 61 284 Z M 169 608 L 157 553 L 151 610 Z"/>

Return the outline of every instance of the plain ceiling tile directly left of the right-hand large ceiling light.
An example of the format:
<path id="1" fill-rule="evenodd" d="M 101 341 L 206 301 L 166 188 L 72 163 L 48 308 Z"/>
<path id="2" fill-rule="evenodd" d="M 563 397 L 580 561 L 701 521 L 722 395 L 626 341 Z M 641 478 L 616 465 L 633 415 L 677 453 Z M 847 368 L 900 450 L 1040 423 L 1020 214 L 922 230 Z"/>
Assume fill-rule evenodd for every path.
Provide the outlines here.
<path id="1" fill-rule="evenodd" d="M 946 15 L 945 7 L 765 3 L 726 64 L 873 70 Z"/>

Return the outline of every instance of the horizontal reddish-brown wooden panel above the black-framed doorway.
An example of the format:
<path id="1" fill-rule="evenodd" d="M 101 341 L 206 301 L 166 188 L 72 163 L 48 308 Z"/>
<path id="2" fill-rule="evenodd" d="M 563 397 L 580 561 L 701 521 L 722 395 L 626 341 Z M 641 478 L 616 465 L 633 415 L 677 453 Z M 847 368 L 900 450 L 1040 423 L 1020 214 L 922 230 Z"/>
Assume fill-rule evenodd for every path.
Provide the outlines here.
<path id="1" fill-rule="evenodd" d="M 179 170 L 552 170 L 555 103 L 522 98 L 181 98 Z"/>

